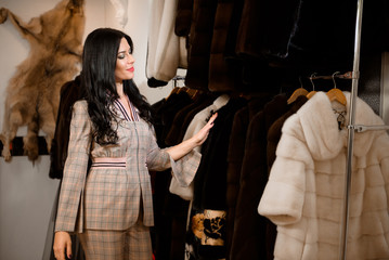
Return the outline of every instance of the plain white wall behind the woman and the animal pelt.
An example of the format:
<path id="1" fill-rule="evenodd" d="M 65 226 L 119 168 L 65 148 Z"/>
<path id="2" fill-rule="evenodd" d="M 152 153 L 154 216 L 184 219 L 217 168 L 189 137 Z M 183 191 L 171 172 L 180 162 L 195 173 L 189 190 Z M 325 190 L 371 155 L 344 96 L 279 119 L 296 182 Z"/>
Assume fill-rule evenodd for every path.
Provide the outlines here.
<path id="1" fill-rule="evenodd" d="M 23 21 L 52 9 L 60 0 L 0 0 Z M 150 0 L 128 0 L 128 23 L 121 28 L 109 0 L 86 0 L 86 36 L 98 27 L 124 29 L 134 41 L 135 82 L 150 103 L 167 96 L 171 84 L 152 89 L 146 84 L 145 64 Z M 0 129 L 3 122 L 5 89 L 15 67 L 27 57 L 29 46 L 13 25 L 0 25 Z M 26 132 L 23 127 L 17 135 Z M 49 156 L 33 164 L 25 156 L 11 162 L 0 157 L 0 259 L 41 259 L 49 218 L 59 181 L 49 178 Z"/>

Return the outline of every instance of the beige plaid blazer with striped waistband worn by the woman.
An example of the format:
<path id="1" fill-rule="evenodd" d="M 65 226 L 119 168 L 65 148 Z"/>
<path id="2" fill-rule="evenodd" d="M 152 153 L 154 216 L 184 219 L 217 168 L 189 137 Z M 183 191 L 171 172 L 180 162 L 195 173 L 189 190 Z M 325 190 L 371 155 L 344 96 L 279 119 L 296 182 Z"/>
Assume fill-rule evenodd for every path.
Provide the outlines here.
<path id="1" fill-rule="evenodd" d="M 116 103 L 120 105 L 119 101 Z M 74 105 L 55 231 L 126 230 L 138 220 L 141 206 L 143 223 L 151 226 L 154 216 L 148 170 L 171 167 L 183 186 L 187 185 L 185 176 L 197 170 L 198 152 L 192 151 L 173 161 L 158 147 L 154 128 L 139 117 L 135 108 L 128 112 L 115 106 L 113 109 L 119 117 L 114 126 L 118 143 L 101 146 L 92 140 L 87 102 L 78 101 Z M 89 158 L 92 167 L 88 172 Z"/>

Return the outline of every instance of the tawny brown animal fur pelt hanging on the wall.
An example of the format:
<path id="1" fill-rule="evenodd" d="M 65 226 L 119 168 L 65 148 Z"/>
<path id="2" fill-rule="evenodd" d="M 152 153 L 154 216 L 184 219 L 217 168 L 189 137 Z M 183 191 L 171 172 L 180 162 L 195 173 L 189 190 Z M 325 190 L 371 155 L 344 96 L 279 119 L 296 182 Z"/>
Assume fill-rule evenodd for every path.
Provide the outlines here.
<path id="1" fill-rule="evenodd" d="M 29 42 L 28 57 L 17 66 L 7 88 L 0 140 L 2 156 L 11 160 L 10 143 L 21 126 L 27 126 L 24 151 L 30 160 L 38 154 L 38 131 L 46 133 L 48 150 L 54 135 L 61 87 L 80 69 L 85 28 L 85 0 L 63 0 L 54 9 L 24 23 L 0 9 L 0 24 L 9 18 Z"/>

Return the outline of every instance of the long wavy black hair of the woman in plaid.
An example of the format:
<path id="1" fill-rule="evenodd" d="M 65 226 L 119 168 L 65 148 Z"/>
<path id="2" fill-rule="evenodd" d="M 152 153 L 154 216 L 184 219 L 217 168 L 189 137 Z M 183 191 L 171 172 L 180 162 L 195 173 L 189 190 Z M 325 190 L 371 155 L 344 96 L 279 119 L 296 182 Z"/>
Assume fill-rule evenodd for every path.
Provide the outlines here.
<path id="1" fill-rule="evenodd" d="M 93 138 L 101 144 L 117 143 L 117 120 L 112 107 L 119 98 L 116 91 L 115 68 L 122 38 L 126 38 L 133 52 L 131 38 L 112 28 L 99 28 L 86 39 L 82 53 L 81 88 L 87 92 L 88 114 L 92 120 Z M 141 95 L 133 80 L 124 80 L 124 92 L 139 109 L 140 116 L 152 123 L 151 105 Z M 116 125 L 117 126 L 117 125 Z"/>

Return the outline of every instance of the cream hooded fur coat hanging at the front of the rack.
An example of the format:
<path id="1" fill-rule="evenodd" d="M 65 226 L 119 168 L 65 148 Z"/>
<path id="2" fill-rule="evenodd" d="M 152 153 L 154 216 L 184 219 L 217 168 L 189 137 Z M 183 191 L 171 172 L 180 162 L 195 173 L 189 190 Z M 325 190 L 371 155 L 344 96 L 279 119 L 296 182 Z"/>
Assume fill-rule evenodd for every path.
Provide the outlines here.
<path id="1" fill-rule="evenodd" d="M 384 125 L 361 99 L 355 104 L 356 125 Z M 317 92 L 284 123 L 258 206 L 277 225 L 274 259 L 339 257 L 348 130 L 339 131 L 336 118 Z M 389 259 L 389 138 L 386 131 L 355 132 L 353 144 L 347 257 Z"/>

